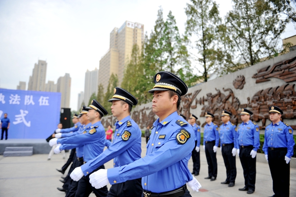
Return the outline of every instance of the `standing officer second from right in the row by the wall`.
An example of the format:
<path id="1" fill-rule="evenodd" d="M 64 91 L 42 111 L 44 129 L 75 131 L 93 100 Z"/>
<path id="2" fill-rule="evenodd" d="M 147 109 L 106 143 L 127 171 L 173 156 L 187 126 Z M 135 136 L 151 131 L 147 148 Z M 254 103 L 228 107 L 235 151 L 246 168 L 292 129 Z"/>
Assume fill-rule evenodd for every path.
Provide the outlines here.
<path id="1" fill-rule="evenodd" d="M 253 112 L 243 108 L 240 116 L 242 123 L 237 128 L 237 155 L 241 161 L 245 187 L 239 191 L 248 191 L 247 194 L 253 194 L 256 182 L 256 155 L 260 146 L 259 126 L 250 120 Z"/>

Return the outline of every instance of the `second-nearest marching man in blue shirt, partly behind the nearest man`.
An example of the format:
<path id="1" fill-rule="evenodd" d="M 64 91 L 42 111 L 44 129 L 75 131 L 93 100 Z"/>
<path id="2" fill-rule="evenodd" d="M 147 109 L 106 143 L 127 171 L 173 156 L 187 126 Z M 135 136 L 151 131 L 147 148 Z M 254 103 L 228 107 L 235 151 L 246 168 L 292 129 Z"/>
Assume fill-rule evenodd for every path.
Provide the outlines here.
<path id="1" fill-rule="evenodd" d="M 111 112 L 118 121 L 115 123 L 115 132 L 112 145 L 98 157 L 74 169 L 70 175 L 78 181 L 84 174 L 96 170 L 100 165 L 114 158 L 114 167 L 129 164 L 141 158 L 141 135 L 138 124 L 130 117 L 130 112 L 138 100 L 128 91 L 115 87 L 114 95 L 109 100 L 112 102 Z M 141 178 L 114 184 L 108 197 L 141 197 L 143 193 Z"/>

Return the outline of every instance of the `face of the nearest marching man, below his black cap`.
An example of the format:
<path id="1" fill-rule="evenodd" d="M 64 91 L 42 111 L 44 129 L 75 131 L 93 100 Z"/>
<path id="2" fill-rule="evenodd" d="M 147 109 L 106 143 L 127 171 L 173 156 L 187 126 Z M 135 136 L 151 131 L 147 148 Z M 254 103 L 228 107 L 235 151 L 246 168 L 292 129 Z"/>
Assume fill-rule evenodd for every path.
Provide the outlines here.
<path id="1" fill-rule="evenodd" d="M 170 98 L 168 91 L 154 91 L 152 99 L 152 112 L 159 117 L 167 114 L 169 111 L 172 111 L 174 103 L 177 103 L 174 101 L 174 97 L 175 96 Z"/>

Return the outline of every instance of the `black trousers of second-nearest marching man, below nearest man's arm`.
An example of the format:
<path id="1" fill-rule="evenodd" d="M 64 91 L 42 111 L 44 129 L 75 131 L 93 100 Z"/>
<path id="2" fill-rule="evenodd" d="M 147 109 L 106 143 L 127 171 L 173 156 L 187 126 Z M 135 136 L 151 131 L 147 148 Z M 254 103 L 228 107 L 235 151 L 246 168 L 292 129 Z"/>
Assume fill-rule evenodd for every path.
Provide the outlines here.
<path id="1" fill-rule="evenodd" d="M 143 194 L 142 178 L 117 183 L 111 186 L 107 197 L 141 197 Z"/>

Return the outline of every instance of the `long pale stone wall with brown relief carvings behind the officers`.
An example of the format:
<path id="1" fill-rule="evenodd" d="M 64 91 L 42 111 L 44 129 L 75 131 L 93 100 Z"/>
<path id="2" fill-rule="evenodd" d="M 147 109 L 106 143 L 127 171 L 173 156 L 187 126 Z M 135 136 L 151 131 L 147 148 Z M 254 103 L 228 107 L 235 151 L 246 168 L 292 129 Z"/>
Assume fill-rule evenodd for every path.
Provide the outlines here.
<path id="1" fill-rule="evenodd" d="M 221 124 L 222 110 L 230 111 L 233 115 L 230 121 L 238 124 L 241 122 L 241 109 L 248 108 L 254 113 L 251 119 L 257 122 L 262 132 L 270 123 L 268 107 L 276 105 L 284 111 L 283 121 L 296 129 L 295 84 L 296 51 L 292 51 L 190 87 L 182 97 L 179 112 L 187 118 L 194 114 L 198 117 L 197 123 L 203 127 L 206 111 L 215 115 L 217 124 Z M 142 129 L 151 126 L 157 118 L 152 113 L 151 102 L 134 107 L 131 116 Z M 112 116 L 102 119 L 105 127 L 115 121 Z"/>

